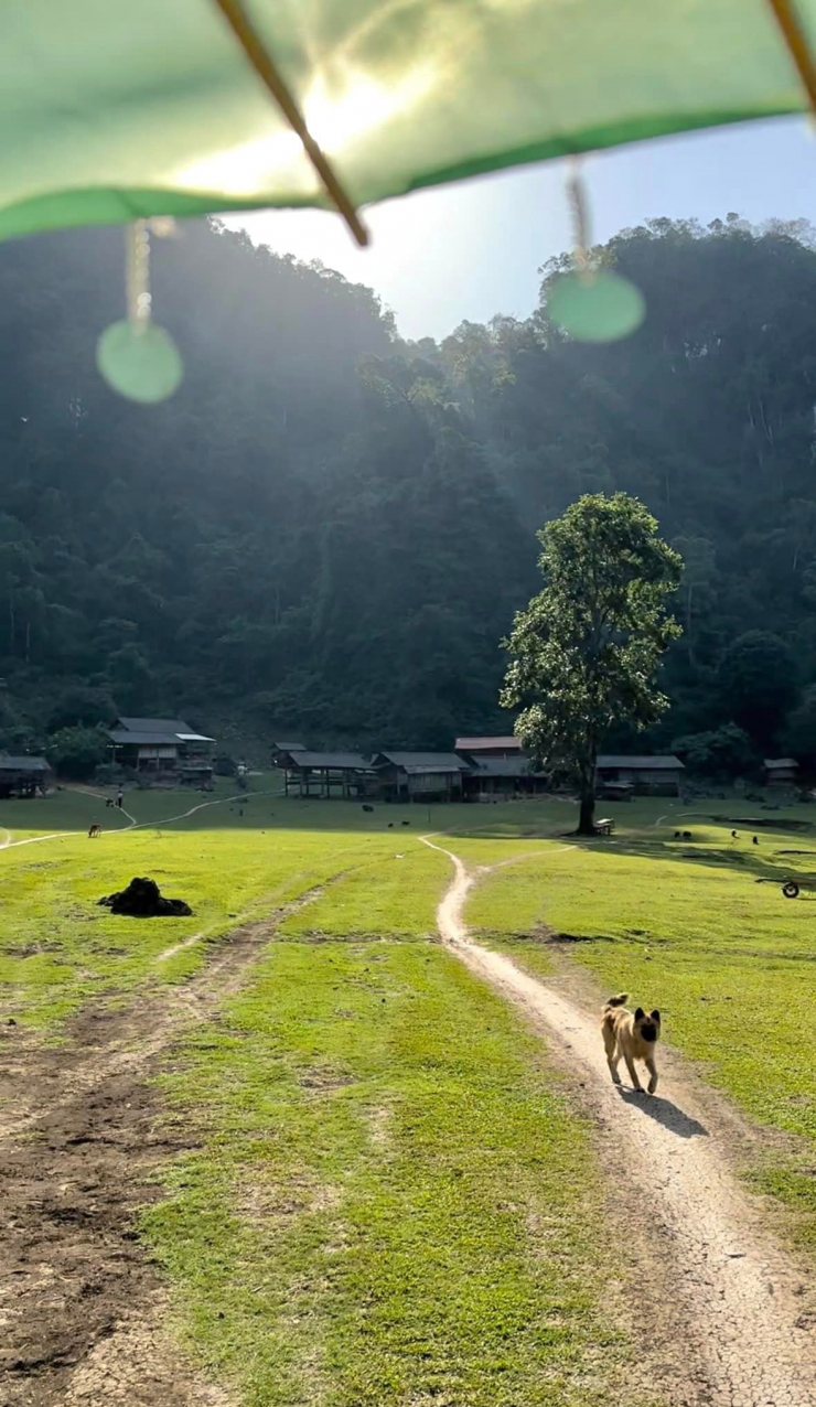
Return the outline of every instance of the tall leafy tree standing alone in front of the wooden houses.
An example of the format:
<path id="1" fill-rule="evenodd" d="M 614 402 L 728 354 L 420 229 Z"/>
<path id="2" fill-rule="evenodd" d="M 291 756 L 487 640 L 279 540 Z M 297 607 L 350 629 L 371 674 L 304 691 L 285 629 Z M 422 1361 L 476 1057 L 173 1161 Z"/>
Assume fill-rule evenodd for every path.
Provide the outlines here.
<path id="1" fill-rule="evenodd" d="M 567 770 L 581 798 L 578 834 L 594 834 L 598 747 L 613 723 L 654 723 L 656 685 L 681 628 L 668 615 L 682 560 L 627 494 L 585 494 L 539 533 L 544 588 L 521 611 L 501 696 L 523 705 L 516 734 L 539 761 Z"/>

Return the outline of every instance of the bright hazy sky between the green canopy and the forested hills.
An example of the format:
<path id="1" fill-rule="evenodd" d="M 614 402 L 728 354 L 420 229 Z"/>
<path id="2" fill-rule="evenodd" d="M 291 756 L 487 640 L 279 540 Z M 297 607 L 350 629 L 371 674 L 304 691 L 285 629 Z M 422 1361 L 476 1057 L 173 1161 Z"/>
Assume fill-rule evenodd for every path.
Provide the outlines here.
<path id="1" fill-rule="evenodd" d="M 404 336 L 443 338 L 463 318 L 526 317 L 536 305 L 540 265 L 571 245 L 564 176 L 550 162 L 385 201 L 366 214 L 373 243 L 363 250 L 338 215 L 318 211 L 228 222 L 369 284 Z M 627 146 L 587 159 L 584 176 L 597 241 L 653 215 L 708 222 L 733 210 L 816 224 L 816 139 L 801 118 Z"/>

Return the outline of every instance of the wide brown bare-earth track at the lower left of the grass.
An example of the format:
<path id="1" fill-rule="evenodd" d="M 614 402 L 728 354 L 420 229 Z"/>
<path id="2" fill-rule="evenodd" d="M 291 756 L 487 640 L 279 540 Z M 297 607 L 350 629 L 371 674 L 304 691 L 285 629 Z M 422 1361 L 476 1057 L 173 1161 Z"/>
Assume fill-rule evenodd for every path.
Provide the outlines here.
<path id="1" fill-rule="evenodd" d="M 321 892 L 239 927 L 186 983 L 91 1005 L 62 1045 L 3 1031 L 0 1407 L 232 1407 L 165 1331 L 135 1231 L 156 1168 L 190 1148 L 183 1121 L 159 1123 L 152 1076 L 184 1031 L 219 1020 L 280 920 Z"/>

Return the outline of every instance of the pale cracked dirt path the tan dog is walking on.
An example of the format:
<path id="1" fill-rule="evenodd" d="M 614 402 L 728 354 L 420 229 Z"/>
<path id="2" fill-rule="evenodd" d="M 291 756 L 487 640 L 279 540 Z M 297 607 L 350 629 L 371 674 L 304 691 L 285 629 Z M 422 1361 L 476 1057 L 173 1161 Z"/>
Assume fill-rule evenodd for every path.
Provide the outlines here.
<path id="1" fill-rule="evenodd" d="M 763 1225 L 729 1154 L 744 1126 L 713 1092 L 658 1059 L 658 1095 L 618 1090 L 599 1014 L 564 983 L 543 983 L 468 938 L 463 906 L 480 871 L 450 850 L 454 877 L 439 910 L 443 941 L 547 1037 L 599 1127 L 611 1196 L 633 1247 L 650 1314 L 647 1341 L 672 1407 L 813 1407 L 816 1314 L 801 1271 Z M 484 871 L 481 871 L 484 872 Z"/>

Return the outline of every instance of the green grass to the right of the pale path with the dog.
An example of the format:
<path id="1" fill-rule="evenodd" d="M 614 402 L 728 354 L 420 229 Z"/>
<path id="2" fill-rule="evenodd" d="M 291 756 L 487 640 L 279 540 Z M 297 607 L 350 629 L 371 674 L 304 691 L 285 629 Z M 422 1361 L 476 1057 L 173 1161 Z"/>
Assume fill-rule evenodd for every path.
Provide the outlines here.
<path id="1" fill-rule="evenodd" d="M 536 858 L 484 879 L 467 920 L 542 975 L 552 971 L 547 931 L 580 940 L 570 957 L 602 991 L 660 1006 L 664 1037 L 706 1079 L 757 1121 L 805 1140 L 799 1155 L 775 1151 L 746 1171 L 784 1199 L 793 1233 L 816 1248 L 816 889 L 781 893 L 788 874 L 816 874 L 816 809 L 709 802 L 678 825 L 672 812 L 656 825 L 667 809 L 658 801 L 604 809 L 618 820 L 613 840 L 542 841 Z M 733 840 L 729 817 L 740 816 L 764 825 L 737 826 Z M 678 826 L 691 841 L 674 839 Z M 466 837 L 457 850 L 468 857 Z M 764 878 L 775 882 L 757 884 Z"/>

